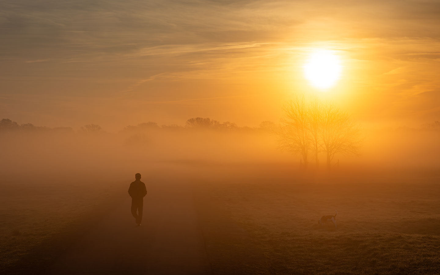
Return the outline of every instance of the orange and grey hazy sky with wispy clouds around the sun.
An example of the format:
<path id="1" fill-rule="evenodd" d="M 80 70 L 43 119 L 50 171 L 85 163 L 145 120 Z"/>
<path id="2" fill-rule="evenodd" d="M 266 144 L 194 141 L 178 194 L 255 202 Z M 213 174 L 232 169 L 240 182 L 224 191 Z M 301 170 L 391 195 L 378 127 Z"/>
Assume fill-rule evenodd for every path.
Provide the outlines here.
<path id="1" fill-rule="evenodd" d="M 298 93 L 377 127 L 440 120 L 440 1 L 0 1 L 0 118 L 34 125 L 279 121 Z M 316 49 L 343 66 L 325 92 Z"/>

